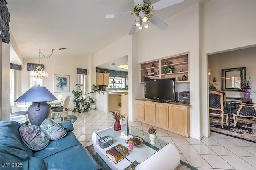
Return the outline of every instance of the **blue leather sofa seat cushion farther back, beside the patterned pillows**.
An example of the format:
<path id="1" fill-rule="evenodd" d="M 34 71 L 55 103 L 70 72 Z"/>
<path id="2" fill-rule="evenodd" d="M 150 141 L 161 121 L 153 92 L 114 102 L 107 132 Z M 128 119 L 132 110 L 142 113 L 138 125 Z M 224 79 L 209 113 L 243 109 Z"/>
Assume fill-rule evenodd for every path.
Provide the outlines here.
<path id="1" fill-rule="evenodd" d="M 67 132 L 64 138 L 59 140 L 51 141 L 50 144 L 43 150 L 34 152 L 35 156 L 38 158 L 46 158 L 53 154 L 56 154 L 62 150 L 70 148 L 72 146 L 80 145 L 80 142 L 76 138 L 73 132 Z"/>

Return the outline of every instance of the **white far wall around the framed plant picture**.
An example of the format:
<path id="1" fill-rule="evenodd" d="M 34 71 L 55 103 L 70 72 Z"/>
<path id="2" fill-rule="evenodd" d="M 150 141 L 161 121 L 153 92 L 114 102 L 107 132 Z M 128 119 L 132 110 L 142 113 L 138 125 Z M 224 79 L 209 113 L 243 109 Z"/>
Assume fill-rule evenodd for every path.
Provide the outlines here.
<path id="1" fill-rule="evenodd" d="M 73 90 L 77 90 L 75 84 L 77 84 L 77 73 L 76 68 L 88 69 L 88 56 L 76 57 L 76 59 L 70 57 L 54 57 L 54 52 L 51 57 L 41 58 L 41 64 L 44 64 L 44 69 L 48 72 L 48 77 L 43 79 L 43 86 L 45 86 L 54 96 L 62 94 L 62 99 L 64 100 L 68 95 L 71 95 L 69 102 L 69 109 L 74 109 L 73 100 Z M 25 93 L 29 89 L 29 71 L 27 71 L 27 63 L 39 63 L 38 58 L 34 59 L 24 59 L 24 66 L 22 66 L 22 71 L 20 75 L 22 77 L 21 81 L 21 94 Z M 90 69 L 87 70 L 90 73 Z M 55 92 L 54 93 L 54 74 L 58 75 L 69 75 L 69 92 Z M 86 79 L 87 81 L 87 79 Z M 87 86 L 86 86 L 87 87 Z"/>

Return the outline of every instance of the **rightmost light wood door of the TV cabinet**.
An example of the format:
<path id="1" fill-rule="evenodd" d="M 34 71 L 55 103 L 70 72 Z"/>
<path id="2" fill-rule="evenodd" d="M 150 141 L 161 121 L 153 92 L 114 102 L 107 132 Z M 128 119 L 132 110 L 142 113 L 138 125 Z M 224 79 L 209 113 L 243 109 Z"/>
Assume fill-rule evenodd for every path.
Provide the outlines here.
<path id="1" fill-rule="evenodd" d="M 186 108 L 170 106 L 169 113 L 169 127 L 172 130 L 187 133 Z"/>

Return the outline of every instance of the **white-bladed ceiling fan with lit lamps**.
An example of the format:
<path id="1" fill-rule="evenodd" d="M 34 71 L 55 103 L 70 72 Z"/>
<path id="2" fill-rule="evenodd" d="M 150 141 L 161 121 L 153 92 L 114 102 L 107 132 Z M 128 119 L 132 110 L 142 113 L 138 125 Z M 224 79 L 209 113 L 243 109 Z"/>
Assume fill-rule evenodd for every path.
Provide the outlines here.
<path id="1" fill-rule="evenodd" d="M 120 16 L 128 16 L 128 15 L 136 15 L 136 20 L 134 21 L 132 28 L 130 29 L 129 35 L 132 35 L 135 33 L 136 28 L 142 29 L 142 28 L 148 28 L 149 24 L 148 21 L 150 21 L 152 24 L 160 28 L 161 30 L 164 30 L 167 28 L 167 24 L 157 18 L 156 16 L 150 14 L 150 12 L 154 12 L 157 10 L 161 10 L 163 8 L 166 8 L 168 6 L 172 6 L 175 4 L 178 4 L 180 2 L 183 2 L 183 0 L 160 0 L 154 4 L 151 4 L 149 0 L 134 0 L 134 9 L 133 11 L 126 11 L 126 12 L 120 12 L 120 13 L 114 13 L 114 14 L 106 14 L 106 18 L 116 18 Z"/>

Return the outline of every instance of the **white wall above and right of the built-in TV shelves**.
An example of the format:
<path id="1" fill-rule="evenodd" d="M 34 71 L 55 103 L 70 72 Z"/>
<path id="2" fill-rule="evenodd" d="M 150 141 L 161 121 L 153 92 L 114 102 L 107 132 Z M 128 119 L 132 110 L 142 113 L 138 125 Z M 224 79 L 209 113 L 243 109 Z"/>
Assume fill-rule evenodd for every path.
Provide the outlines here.
<path id="1" fill-rule="evenodd" d="M 199 8 L 189 8 L 164 20 L 168 27 L 160 30 L 153 24 L 139 34 L 139 62 L 189 52 L 190 59 L 190 136 L 200 139 L 199 98 Z M 130 78 L 130 77 L 129 77 Z M 177 87 L 180 86 L 177 83 Z M 184 86 L 186 88 L 186 86 Z M 186 90 L 179 88 L 180 91 Z M 140 92 L 140 93 L 143 93 Z"/>

